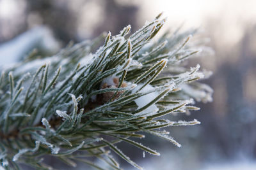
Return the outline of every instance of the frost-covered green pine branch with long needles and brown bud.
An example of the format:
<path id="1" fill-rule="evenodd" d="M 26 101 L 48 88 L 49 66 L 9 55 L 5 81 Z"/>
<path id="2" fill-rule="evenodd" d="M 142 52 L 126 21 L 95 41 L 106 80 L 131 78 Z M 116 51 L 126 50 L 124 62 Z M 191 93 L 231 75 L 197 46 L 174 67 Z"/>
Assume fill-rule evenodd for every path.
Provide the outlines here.
<path id="1" fill-rule="evenodd" d="M 68 45 L 52 57 L 28 56 L 2 71 L 0 167 L 19 169 L 23 163 L 49 169 L 42 157 L 51 155 L 70 166 L 81 161 L 104 168 L 88 159 L 96 157 L 120 169 L 112 150 L 142 169 L 115 144 L 124 141 L 160 155 L 132 140 L 151 134 L 180 147 L 159 129 L 200 122 L 163 116 L 198 110 L 190 105 L 192 98 L 211 101 L 212 89 L 196 81 L 204 77 L 199 65 L 185 67 L 184 60 L 198 52 L 187 44 L 195 30 L 166 32 L 152 41 L 164 21 L 159 15 L 133 34 L 130 25 L 116 36 L 109 32 L 95 53 L 101 36 Z"/>

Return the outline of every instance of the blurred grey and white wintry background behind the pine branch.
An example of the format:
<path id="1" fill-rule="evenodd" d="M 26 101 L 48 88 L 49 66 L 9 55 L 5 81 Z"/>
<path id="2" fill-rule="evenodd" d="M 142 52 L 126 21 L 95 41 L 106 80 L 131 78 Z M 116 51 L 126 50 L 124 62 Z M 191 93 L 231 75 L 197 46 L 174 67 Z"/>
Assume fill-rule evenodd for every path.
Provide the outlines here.
<path id="1" fill-rule="evenodd" d="M 161 11 L 168 20 L 160 34 L 180 25 L 200 28 L 205 46 L 214 50 L 190 63 L 213 71 L 205 83 L 214 89 L 214 100 L 196 103 L 200 111 L 179 117 L 196 118 L 201 125 L 168 129 L 182 148 L 147 138 L 145 144 L 158 148 L 160 157 L 143 158 L 128 145 L 122 146 L 124 153 L 150 170 L 256 169 L 255 0 L 0 0 L 0 66 L 17 62 L 33 48 L 52 55 L 70 40 L 95 38 L 103 31 L 115 35 L 128 24 L 134 32 Z"/>

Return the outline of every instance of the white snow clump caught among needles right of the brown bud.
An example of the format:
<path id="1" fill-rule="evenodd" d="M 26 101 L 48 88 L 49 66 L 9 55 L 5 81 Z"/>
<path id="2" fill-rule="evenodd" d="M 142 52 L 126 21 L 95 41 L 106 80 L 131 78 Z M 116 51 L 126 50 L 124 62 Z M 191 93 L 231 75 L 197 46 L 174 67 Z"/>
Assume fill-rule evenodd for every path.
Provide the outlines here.
<path id="1" fill-rule="evenodd" d="M 143 86 L 143 84 L 137 85 L 137 87 L 132 90 L 132 93 L 136 92 L 142 86 Z M 154 90 L 154 87 L 152 87 L 152 85 L 146 85 L 143 89 L 140 90 L 140 92 L 141 93 L 148 92 L 149 90 Z M 134 102 L 137 104 L 138 109 L 140 109 L 143 106 L 145 106 L 148 103 L 150 103 L 150 101 L 155 99 L 158 95 L 159 95 L 158 92 L 152 92 L 150 94 L 146 94 L 144 96 L 141 96 L 138 99 L 135 99 Z M 146 110 L 143 110 L 143 112 L 145 112 L 145 113 L 146 112 L 152 112 L 152 111 L 153 112 L 158 111 L 158 108 L 157 108 L 156 104 L 152 104 L 152 106 L 149 106 Z"/>

